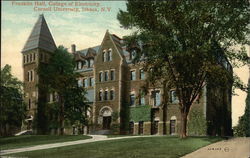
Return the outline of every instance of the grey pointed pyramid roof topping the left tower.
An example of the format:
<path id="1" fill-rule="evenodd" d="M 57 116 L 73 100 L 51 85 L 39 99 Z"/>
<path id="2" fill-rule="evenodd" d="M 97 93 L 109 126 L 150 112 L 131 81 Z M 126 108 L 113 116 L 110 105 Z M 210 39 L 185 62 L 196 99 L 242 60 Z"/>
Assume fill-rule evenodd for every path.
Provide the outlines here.
<path id="1" fill-rule="evenodd" d="M 35 48 L 41 48 L 49 52 L 53 52 L 56 49 L 56 44 L 49 31 L 43 14 L 39 16 L 22 52 Z"/>

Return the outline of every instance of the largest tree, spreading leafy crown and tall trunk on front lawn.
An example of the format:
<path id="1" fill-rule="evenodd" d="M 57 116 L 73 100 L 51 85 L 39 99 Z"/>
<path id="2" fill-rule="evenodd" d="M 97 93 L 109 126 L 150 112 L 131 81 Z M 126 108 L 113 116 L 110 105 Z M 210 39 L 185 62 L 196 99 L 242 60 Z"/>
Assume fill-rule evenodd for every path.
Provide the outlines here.
<path id="1" fill-rule="evenodd" d="M 249 1 L 140 1 L 128 0 L 127 11 L 117 15 L 120 24 L 137 30 L 125 37 L 127 47 L 137 48 L 146 69 L 176 88 L 181 112 L 181 135 L 186 137 L 187 116 L 202 88 L 211 80 L 228 88 L 230 66 L 247 63 Z M 139 49 L 138 49 L 139 48 Z M 230 86 L 229 86 L 230 88 Z"/>

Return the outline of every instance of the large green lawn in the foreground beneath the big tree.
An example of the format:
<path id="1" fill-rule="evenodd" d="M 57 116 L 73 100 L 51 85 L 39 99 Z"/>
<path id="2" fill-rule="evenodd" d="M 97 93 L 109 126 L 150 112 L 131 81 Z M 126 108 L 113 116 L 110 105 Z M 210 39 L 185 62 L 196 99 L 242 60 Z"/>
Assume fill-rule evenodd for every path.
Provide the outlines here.
<path id="1" fill-rule="evenodd" d="M 29 158 L 179 158 L 220 138 L 159 136 L 107 140 L 11 156 Z"/>

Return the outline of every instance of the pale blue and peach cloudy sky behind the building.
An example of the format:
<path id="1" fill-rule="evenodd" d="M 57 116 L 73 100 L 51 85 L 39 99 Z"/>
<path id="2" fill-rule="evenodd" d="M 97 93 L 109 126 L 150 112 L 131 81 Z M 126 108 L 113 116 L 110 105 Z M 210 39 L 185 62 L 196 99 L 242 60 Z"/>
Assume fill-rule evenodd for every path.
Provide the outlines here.
<path id="1" fill-rule="evenodd" d="M 20 80 L 23 80 L 21 50 L 39 14 L 44 14 L 56 45 L 63 45 L 69 49 L 71 44 L 75 44 L 77 50 L 100 45 L 106 30 L 119 37 L 132 33 L 131 30 L 121 28 L 116 19 L 119 9 L 126 10 L 125 1 L 81 1 L 85 3 L 85 6 L 81 7 L 69 7 L 72 1 L 54 1 L 50 4 L 46 1 L 46 6 L 37 6 L 34 1 L 16 1 L 31 2 L 32 5 L 28 6 L 13 2 L 15 1 L 2 1 L 1 68 L 6 64 L 11 65 L 13 75 Z M 80 12 L 53 11 L 54 7 L 59 7 L 58 5 L 63 3 L 67 4 L 64 8 L 78 8 Z M 94 3 L 97 6 L 93 6 Z M 37 11 L 36 7 L 52 7 L 52 11 Z M 105 10 L 102 11 L 103 9 Z M 234 69 L 234 72 L 247 83 L 249 70 L 246 66 Z M 246 98 L 246 93 L 240 90 L 236 90 L 236 94 L 232 98 L 233 125 L 237 124 L 238 117 L 244 113 Z"/>

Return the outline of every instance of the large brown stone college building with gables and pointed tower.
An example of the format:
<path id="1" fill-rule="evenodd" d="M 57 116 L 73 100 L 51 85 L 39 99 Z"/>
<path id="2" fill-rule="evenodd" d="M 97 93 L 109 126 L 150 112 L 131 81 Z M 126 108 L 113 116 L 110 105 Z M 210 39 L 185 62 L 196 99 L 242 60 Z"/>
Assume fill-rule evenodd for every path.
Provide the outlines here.
<path id="1" fill-rule="evenodd" d="M 71 46 L 71 53 L 76 61 L 75 71 L 81 74 L 78 84 L 86 88 L 91 104 L 89 132 L 119 133 L 123 129 L 127 134 L 163 134 L 165 125 L 166 134 L 178 134 L 180 112 L 175 90 L 169 92 L 164 123 L 162 87 L 149 89 L 147 95 L 142 93 L 147 73 L 144 72 L 142 64 L 132 63 L 135 52 L 127 51 L 122 42 L 121 38 L 106 31 L 98 46 L 84 50 L 76 50 L 74 44 Z M 22 51 L 25 101 L 30 116 L 27 119 L 28 128 L 36 113 L 37 104 L 44 102 L 44 94 L 36 87 L 39 76 L 35 69 L 39 64 L 47 62 L 49 54 L 55 49 L 53 37 L 41 15 Z M 224 60 L 224 68 L 232 71 L 227 60 Z M 188 133 L 230 135 L 231 87 L 221 91 L 206 86 L 202 94 L 192 105 Z M 221 114 L 219 112 L 223 113 L 223 117 L 218 117 Z"/>

